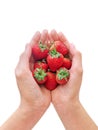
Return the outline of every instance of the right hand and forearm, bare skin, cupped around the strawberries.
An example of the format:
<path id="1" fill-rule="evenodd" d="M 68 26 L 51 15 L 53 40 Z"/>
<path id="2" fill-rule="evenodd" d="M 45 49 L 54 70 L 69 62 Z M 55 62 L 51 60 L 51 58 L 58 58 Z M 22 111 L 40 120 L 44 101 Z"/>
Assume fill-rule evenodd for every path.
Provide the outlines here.
<path id="1" fill-rule="evenodd" d="M 89 117 L 79 100 L 79 91 L 82 82 L 82 56 L 60 32 L 52 30 L 50 37 L 53 41 L 63 41 L 72 57 L 70 80 L 66 85 L 60 85 L 52 91 L 52 103 L 66 130 L 98 130 L 98 127 Z"/>

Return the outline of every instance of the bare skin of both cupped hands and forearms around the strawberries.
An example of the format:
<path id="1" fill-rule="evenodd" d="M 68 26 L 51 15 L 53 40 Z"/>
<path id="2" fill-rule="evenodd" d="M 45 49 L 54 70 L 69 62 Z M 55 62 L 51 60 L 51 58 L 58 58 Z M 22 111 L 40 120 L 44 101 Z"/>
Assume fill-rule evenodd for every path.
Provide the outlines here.
<path id="1" fill-rule="evenodd" d="M 49 46 L 50 42 L 47 41 L 63 41 L 72 57 L 69 82 L 51 92 L 45 87 L 39 87 L 31 73 L 34 62 L 31 57 L 32 45 L 40 40 Z M 37 32 L 21 54 L 15 75 L 20 92 L 20 105 L 0 130 L 31 130 L 45 113 L 50 102 L 53 103 L 66 130 L 98 130 L 79 100 L 83 75 L 81 53 L 62 33 L 57 33 L 55 30 L 50 34 L 47 30 L 41 34 Z"/>

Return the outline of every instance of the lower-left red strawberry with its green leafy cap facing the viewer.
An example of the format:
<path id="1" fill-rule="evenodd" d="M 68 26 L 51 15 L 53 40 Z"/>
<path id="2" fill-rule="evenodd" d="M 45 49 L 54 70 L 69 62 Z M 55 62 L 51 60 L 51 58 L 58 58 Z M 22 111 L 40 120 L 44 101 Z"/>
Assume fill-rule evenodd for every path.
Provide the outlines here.
<path id="1" fill-rule="evenodd" d="M 36 68 L 32 73 L 33 73 L 33 77 L 35 78 L 38 84 L 44 84 L 46 82 L 47 73 L 45 72 L 45 70 L 41 68 Z"/>

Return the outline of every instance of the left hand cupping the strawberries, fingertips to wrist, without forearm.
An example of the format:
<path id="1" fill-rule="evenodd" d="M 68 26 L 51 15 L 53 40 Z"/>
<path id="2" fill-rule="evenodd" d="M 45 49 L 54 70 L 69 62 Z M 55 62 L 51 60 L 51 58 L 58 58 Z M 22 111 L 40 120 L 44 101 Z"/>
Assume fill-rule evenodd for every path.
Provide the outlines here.
<path id="1" fill-rule="evenodd" d="M 20 107 L 30 111 L 37 110 L 36 114 L 41 113 L 41 115 L 48 108 L 51 102 L 51 96 L 50 91 L 45 87 L 39 87 L 32 76 L 30 68 L 31 65 L 33 65 L 33 59 L 31 58 L 31 54 L 32 45 L 37 44 L 40 40 L 45 41 L 48 36 L 47 34 L 48 32 L 44 30 L 42 34 L 37 32 L 34 35 L 31 42 L 26 45 L 25 51 L 21 54 L 19 63 L 15 70 L 16 80 L 21 96 Z"/>

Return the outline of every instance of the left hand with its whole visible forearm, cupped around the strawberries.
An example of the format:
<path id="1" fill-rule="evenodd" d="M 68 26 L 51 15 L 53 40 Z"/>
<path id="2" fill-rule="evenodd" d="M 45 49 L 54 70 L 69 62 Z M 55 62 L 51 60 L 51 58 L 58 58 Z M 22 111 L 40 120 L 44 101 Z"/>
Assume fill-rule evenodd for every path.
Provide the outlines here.
<path id="1" fill-rule="evenodd" d="M 0 130 L 31 130 L 50 105 L 50 91 L 38 86 L 30 70 L 30 62 L 33 64 L 32 45 L 40 39 L 44 41 L 45 37 L 47 37 L 46 30 L 42 34 L 37 32 L 19 58 L 15 75 L 20 92 L 20 105 Z"/>

